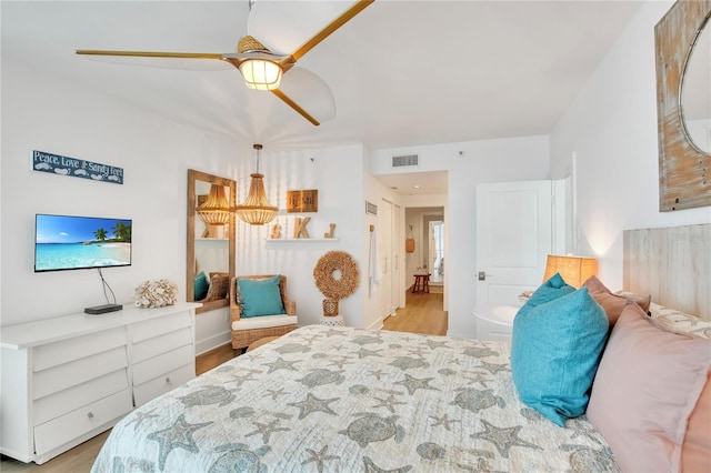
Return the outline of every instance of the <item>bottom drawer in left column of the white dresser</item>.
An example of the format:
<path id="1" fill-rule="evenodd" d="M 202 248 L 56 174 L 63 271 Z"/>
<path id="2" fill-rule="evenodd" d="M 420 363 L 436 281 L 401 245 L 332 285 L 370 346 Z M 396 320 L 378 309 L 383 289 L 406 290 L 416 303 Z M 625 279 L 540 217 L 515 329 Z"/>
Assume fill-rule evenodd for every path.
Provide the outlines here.
<path id="1" fill-rule="evenodd" d="M 123 390 L 34 427 L 38 455 L 49 452 L 93 429 L 98 429 L 132 409 L 131 391 Z"/>

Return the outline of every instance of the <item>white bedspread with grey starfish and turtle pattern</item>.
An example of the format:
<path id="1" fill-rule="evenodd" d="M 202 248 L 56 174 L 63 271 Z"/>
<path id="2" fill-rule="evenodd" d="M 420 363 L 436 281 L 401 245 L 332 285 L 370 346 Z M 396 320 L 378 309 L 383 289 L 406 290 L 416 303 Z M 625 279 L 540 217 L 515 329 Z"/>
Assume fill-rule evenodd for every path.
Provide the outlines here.
<path id="1" fill-rule="evenodd" d="M 504 342 L 309 325 L 144 404 L 93 472 L 619 471 L 519 401 Z"/>

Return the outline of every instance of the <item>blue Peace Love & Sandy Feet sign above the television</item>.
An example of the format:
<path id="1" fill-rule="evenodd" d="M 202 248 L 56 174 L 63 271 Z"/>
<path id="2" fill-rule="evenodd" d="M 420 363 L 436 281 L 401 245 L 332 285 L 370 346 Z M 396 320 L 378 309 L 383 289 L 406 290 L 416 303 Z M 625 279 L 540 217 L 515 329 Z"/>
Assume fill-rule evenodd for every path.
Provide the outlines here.
<path id="1" fill-rule="evenodd" d="M 91 179 L 92 181 L 111 182 L 112 184 L 123 184 L 123 168 L 44 151 L 32 151 L 32 170 Z"/>

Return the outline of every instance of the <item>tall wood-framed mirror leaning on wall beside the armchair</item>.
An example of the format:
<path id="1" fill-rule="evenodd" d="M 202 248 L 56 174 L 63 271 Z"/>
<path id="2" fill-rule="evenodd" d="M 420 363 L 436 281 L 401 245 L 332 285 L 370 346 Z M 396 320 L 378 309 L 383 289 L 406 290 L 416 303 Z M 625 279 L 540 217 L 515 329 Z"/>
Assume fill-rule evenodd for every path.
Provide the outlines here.
<path id="1" fill-rule="evenodd" d="M 197 313 L 230 304 L 234 278 L 237 182 L 188 170 L 186 292 Z"/>

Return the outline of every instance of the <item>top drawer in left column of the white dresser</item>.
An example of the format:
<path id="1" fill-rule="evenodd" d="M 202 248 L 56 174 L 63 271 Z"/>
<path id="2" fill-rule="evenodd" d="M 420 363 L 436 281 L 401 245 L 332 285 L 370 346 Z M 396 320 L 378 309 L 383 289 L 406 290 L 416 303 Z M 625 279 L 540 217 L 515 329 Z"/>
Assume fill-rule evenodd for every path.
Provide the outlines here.
<path id="1" fill-rule="evenodd" d="M 33 371 L 42 371 L 48 368 L 88 358 L 97 353 L 106 352 L 117 346 L 126 345 L 128 336 L 126 329 L 119 326 L 103 332 L 76 336 L 61 342 L 36 346 L 32 353 Z"/>

